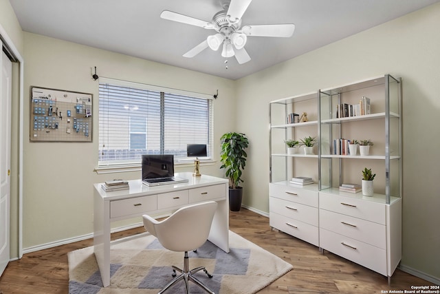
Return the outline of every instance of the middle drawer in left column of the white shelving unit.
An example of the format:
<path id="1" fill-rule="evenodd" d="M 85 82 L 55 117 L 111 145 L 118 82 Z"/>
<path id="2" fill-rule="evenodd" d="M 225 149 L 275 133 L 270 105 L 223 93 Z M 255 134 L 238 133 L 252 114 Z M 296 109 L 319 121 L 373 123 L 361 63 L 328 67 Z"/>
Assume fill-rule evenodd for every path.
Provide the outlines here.
<path id="1" fill-rule="evenodd" d="M 318 209 L 315 207 L 270 197 L 270 211 L 318 227 Z"/>

